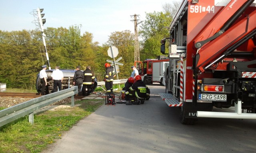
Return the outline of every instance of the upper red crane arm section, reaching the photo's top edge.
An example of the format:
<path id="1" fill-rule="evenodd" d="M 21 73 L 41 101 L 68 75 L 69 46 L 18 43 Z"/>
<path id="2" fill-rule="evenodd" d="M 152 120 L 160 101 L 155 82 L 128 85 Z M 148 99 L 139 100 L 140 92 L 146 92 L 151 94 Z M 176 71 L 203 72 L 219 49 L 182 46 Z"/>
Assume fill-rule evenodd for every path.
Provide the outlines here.
<path id="1" fill-rule="evenodd" d="M 196 37 L 194 46 L 198 49 L 224 33 L 254 0 L 231 0 Z"/>

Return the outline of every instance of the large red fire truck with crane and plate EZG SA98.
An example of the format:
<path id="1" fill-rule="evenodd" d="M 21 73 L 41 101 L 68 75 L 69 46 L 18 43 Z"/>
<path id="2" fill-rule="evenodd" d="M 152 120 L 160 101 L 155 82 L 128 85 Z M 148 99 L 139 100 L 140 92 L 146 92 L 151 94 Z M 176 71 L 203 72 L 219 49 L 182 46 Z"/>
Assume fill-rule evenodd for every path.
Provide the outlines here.
<path id="1" fill-rule="evenodd" d="M 184 0 L 170 37 L 161 43 L 170 61 L 166 93 L 159 94 L 168 106 L 180 107 L 182 124 L 198 118 L 256 119 L 254 0 Z"/>

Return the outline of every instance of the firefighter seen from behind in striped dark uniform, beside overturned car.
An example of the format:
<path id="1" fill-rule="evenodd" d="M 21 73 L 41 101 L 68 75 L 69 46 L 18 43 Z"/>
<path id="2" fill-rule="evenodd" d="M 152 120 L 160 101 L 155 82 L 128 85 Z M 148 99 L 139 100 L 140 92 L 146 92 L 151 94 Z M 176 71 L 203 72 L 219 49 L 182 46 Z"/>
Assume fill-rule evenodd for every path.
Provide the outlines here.
<path id="1" fill-rule="evenodd" d="M 84 81 L 83 81 L 83 87 L 82 87 L 83 96 L 90 95 L 91 88 L 94 82 L 95 82 L 95 77 L 93 72 L 91 71 L 91 67 L 87 66 L 86 70 L 84 70 Z M 86 88 L 87 88 L 87 92 L 86 92 Z"/>

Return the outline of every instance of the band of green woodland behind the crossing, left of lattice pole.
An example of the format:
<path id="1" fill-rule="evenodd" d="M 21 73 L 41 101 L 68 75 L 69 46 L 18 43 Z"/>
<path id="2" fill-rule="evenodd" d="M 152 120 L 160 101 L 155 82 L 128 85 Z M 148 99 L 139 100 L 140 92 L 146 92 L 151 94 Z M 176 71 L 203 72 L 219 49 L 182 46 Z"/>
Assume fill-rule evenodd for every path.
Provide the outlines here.
<path id="1" fill-rule="evenodd" d="M 116 31 L 109 36 L 108 43 L 98 46 L 93 42 L 92 33 L 80 35 L 80 26 L 70 26 L 44 30 L 46 34 L 46 49 L 49 55 L 50 67 L 60 66 L 61 69 L 74 69 L 80 65 L 82 69 L 90 65 L 98 81 L 104 78 L 110 45 L 119 49 L 118 57 L 123 59 L 124 67 L 120 66 L 119 79 L 126 78 L 130 71 L 125 71 L 132 65 L 134 51 L 134 35 L 128 31 Z M 41 66 L 48 64 L 46 51 L 40 31 L 1 31 L 0 30 L 0 82 L 8 88 L 35 88 L 36 76 Z M 130 70 L 130 69 L 129 69 Z"/>

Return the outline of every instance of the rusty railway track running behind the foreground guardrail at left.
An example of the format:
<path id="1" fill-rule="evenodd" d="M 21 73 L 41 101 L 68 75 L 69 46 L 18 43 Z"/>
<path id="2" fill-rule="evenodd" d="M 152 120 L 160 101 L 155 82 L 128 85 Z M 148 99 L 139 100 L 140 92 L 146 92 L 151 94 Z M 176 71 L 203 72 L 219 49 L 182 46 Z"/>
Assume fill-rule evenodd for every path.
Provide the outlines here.
<path id="1" fill-rule="evenodd" d="M 20 98 L 37 98 L 42 96 L 40 93 L 26 92 L 0 92 L 0 97 L 20 97 Z M 82 99 L 84 96 L 74 96 L 75 99 Z"/>

